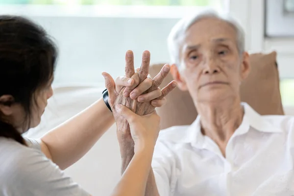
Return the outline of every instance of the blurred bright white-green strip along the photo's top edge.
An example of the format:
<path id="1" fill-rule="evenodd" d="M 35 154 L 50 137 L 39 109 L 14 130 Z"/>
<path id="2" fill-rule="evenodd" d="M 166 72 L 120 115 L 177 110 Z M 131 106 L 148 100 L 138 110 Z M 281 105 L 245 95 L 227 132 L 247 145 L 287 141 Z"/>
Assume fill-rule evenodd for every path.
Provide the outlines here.
<path id="1" fill-rule="evenodd" d="M 220 0 L 0 0 L 1 4 L 221 6 Z"/>

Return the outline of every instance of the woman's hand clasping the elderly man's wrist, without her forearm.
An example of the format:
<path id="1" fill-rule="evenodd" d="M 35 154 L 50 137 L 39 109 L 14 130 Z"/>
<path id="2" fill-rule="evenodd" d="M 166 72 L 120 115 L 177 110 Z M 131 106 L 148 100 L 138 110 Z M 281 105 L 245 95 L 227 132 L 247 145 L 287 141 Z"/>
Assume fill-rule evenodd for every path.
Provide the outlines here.
<path id="1" fill-rule="evenodd" d="M 116 110 L 118 115 L 121 115 L 129 123 L 135 152 L 155 146 L 160 131 L 160 117 L 155 111 L 145 116 L 139 116 L 121 104 L 117 105 Z"/>

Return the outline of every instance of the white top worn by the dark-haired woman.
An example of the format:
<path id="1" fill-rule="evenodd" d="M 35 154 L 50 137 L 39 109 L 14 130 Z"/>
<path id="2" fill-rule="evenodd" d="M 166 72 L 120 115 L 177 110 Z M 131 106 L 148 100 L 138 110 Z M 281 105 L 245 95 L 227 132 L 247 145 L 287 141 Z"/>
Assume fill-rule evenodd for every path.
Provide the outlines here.
<path id="1" fill-rule="evenodd" d="M 41 151 L 0 137 L 0 196 L 89 196 Z"/>

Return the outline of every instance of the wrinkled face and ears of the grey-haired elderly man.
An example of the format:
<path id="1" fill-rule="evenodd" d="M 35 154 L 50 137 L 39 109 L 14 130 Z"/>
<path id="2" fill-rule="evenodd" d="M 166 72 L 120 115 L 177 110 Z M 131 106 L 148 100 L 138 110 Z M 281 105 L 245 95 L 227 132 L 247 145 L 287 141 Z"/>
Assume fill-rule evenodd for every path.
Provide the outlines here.
<path id="1" fill-rule="evenodd" d="M 194 102 L 215 102 L 239 96 L 249 73 L 249 56 L 239 54 L 235 29 L 224 21 L 206 18 L 186 32 L 180 49 L 181 65 L 172 75 Z"/>

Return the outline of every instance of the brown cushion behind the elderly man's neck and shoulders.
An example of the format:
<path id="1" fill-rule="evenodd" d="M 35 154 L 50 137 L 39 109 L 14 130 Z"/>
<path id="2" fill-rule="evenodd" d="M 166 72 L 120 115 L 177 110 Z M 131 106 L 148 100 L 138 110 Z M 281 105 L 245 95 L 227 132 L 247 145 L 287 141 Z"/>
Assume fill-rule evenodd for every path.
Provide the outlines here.
<path id="1" fill-rule="evenodd" d="M 283 115 L 279 87 L 279 73 L 276 52 L 250 54 L 251 72 L 241 84 L 241 99 L 262 115 Z M 164 64 L 153 65 L 150 74 L 154 77 Z M 172 81 L 170 74 L 161 87 Z M 161 128 L 173 125 L 191 124 L 197 116 L 193 100 L 188 92 L 175 89 L 168 95 L 168 103 L 158 108 Z M 167 115 L 169 114 L 169 115 Z"/>

